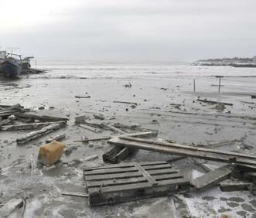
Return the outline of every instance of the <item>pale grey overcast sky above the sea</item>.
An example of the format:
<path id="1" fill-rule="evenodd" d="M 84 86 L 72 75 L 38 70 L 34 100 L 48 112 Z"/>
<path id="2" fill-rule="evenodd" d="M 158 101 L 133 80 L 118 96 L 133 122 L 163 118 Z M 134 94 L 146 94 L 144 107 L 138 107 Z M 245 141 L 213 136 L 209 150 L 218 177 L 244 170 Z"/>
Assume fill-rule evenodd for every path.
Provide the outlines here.
<path id="1" fill-rule="evenodd" d="M 255 0 L 0 0 L 0 46 L 55 60 L 256 55 Z"/>

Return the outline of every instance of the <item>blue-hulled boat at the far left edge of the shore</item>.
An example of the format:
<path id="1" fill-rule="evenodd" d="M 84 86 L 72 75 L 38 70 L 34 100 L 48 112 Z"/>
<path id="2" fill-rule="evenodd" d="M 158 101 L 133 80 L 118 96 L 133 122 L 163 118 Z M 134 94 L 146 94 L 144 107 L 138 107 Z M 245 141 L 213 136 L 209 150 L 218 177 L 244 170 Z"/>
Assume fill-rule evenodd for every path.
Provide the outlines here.
<path id="1" fill-rule="evenodd" d="M 18 77 L 21 71 L 19 60 L 15 59 L 13 56 L 19 56 L 19 60 L 21 60 L 20 55 L 7 53 L 5 58 L 0 63 L 0 71 L 5 77 Z"/>

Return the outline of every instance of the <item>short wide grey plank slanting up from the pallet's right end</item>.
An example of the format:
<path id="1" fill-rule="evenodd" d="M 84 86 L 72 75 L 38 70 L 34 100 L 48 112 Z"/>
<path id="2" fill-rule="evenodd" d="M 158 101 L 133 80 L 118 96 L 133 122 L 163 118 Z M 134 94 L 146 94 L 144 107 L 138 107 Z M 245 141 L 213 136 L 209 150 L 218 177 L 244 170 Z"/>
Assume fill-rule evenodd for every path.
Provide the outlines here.
<path id="1" fill-rule="evenodd" d="M 195 189 L 205 189 L 209 186 L 217 185 L 219 182 L 227 179 L 231 172 L 232 169 L 230 169 L 230 165 L 224 165 L 211 172 L 207 172 L 205 175 L 196 179 L 192 179 L 190 183 Z"/>

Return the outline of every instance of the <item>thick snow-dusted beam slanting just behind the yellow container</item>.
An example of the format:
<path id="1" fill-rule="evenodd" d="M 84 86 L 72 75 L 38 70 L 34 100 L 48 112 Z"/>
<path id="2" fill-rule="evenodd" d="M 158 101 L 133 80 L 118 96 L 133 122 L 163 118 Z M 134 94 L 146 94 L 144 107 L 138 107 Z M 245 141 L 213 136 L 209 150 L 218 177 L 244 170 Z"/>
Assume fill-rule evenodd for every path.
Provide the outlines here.
<path id="1" fill-rule="evenodd" d="M 48 134 L 49 132 L 55 131 L 59 128 L 62 128 L 65 124 L 66 124 L 66 122 L 59 123 L 59 124 L 50 124 L 49 126 L 46 126 L 45 128 L 42 128 L 38 131 L 29 132 L 25 136 L 23 136 L 21 138 L 17 138 L 16 141 L 18 144 L 24 144 L 27 141 L 30 141 L 35 138 L 39 138 L 43 135 Z"/>

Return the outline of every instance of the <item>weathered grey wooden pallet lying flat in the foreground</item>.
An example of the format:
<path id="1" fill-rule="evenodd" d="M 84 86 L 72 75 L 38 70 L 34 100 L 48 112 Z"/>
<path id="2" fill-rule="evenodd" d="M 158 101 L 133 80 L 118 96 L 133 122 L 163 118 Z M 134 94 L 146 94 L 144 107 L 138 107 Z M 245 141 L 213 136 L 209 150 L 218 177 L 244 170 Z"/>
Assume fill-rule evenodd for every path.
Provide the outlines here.
<path id="1" fill-rule="evenodd" d="M 189 189 L 189 180 L 167 162 L 130 162 L 85 168 L 90 206 L 167 196 Z"/>

